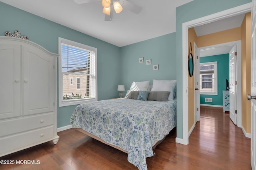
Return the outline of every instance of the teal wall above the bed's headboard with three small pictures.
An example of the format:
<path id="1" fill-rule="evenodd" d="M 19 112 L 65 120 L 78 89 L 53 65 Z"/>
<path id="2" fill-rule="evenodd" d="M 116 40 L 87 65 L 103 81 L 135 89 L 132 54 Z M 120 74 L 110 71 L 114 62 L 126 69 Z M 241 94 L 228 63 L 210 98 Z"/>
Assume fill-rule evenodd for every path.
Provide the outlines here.
<path id="1" fill-rule="evenodd" d="M 170 33 L 121 48 L 122 82 L 129 90 L 133 81 L 176 79 L 176 33 Z M 144 57 L 144 63 L 139 58 Z M 151 65 L 146 60 L 151 59 Z M 158 70 L 153 65 L 158 64 Z"/>

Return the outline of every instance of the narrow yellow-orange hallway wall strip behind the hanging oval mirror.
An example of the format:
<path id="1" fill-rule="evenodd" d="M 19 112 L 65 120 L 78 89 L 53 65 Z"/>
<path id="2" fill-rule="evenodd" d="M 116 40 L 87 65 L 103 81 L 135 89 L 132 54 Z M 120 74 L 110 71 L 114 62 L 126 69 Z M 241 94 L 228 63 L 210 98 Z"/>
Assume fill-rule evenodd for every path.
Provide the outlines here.
<path id="1" fill-rule="evenodd" d="M 188 51 L 190 42 L 192 45 L 192 55 L 195 61 L 194 55 L 194 42 L 197 44 L 196 31 L 194 28 L 188 29 Z M 195 71 L 195 70 L 194 70 Z M 188 74 L 188 131 L 193 127 L 195 123 L 195 103 L 194 103 L 194 93 L 195 93 L 195 83 L 194 83 L 194 74 L 192 77 Z"/>

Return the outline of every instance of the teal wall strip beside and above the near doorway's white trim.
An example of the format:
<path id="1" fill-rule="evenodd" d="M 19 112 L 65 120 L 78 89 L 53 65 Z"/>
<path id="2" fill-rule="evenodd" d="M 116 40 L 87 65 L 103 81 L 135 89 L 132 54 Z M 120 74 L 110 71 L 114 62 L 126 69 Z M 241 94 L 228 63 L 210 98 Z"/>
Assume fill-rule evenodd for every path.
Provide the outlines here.
<path id="1" fill-rule="evenodd" d="M 182 23 L 249 2 L 252 0 L 194 0 L 176 8 L 177 138 L 183 139 Z"/>

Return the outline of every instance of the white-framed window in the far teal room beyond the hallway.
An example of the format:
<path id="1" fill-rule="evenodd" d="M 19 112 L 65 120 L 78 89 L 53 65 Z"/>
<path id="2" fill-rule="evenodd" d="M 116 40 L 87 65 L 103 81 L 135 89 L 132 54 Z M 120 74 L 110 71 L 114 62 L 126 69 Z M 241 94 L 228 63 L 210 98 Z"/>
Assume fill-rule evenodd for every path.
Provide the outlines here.
<path id="1" fill-rule="evenodd" d="M 200 63 L 200 94 L 218 95 L 217 62 Z"/>

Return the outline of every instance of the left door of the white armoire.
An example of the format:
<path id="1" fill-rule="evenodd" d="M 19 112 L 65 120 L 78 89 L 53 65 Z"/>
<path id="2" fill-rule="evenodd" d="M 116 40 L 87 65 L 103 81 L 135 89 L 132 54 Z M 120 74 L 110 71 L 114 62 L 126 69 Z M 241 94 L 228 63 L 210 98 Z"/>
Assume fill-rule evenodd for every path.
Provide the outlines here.
<path id="1" fill-rule="evenodd" d="M 0 119 L 21 115 L 20 46 L 0 44 Z"/>

